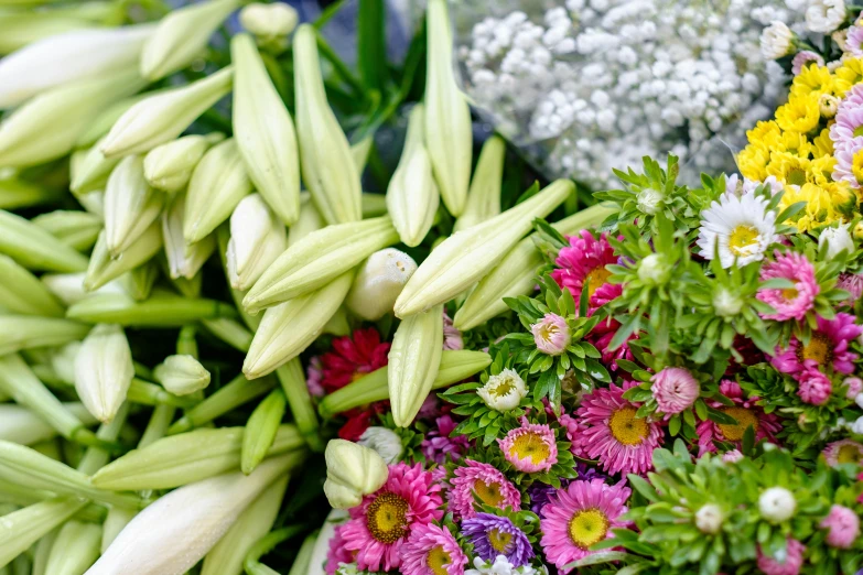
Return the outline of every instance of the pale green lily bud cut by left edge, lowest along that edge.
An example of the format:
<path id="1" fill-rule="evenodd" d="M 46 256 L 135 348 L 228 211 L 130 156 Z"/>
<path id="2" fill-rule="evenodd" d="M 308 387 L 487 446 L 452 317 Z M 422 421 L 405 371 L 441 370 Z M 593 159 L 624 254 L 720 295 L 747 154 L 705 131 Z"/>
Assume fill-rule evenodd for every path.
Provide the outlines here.
<path id="1" fill-rule="evenodd" d="M 86 506 L 86 500 L 76 497 L 57 497 L 3 516 L 0 522 L 0 566 L 8 565 Z"/>

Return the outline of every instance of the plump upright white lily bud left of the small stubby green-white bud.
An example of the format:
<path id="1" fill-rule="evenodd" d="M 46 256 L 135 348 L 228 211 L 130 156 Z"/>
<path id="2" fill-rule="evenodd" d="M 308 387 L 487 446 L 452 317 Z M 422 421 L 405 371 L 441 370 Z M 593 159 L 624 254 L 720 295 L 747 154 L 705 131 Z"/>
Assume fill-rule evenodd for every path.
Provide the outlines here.
<path id="1" fill-rule="evenodd" d="M 122 328 L 94 327 L 75 358 L 75 390 L 87 410 L 101 422 L 111 421 L 133 377 L 132 352 Z"/>

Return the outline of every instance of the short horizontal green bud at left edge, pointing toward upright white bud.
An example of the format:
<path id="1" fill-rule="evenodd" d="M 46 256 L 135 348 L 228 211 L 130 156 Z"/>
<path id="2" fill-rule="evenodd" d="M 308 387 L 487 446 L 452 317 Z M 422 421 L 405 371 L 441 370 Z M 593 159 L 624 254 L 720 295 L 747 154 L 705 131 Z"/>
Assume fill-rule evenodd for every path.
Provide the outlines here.
<path id="1" fill-rule="evenodd" d="M 89 326 L 57 317 L 0 315 L 0 355 L 80 339 Z"/>

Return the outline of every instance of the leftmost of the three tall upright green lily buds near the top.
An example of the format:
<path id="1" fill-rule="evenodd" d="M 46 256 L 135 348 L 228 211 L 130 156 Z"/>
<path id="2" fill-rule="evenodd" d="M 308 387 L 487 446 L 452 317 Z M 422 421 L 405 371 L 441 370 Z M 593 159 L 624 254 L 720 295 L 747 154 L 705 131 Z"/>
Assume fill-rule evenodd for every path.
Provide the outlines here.
<path id="1" fill-rule="evenodd" d="M 237 147 L 255 188 L 290 226 L 300 217 L 300 158 L 291 115 L 251 36 L 234 36 L 230 55 L 236 68 L 233 123 Z"/>

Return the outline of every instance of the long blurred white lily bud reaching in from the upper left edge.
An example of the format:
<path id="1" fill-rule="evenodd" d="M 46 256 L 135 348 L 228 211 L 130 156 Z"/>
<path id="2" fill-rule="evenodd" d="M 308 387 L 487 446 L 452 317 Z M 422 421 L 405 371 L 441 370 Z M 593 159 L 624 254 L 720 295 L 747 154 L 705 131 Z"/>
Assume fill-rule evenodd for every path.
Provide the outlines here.
<path id="1" fill-rule="evenodd" d="M 89 29 L 52 35 L 0 61 L 0 108 L 52 88 L 133 68 L 152 25 Z"/>

